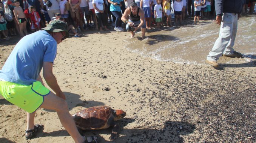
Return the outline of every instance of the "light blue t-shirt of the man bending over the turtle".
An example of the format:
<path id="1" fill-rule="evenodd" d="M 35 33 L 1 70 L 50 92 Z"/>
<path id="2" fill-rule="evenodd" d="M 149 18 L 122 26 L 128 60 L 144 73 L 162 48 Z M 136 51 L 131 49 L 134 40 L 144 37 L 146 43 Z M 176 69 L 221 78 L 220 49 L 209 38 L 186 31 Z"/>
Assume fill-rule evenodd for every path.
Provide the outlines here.
<path id="1" fill-rule="evenodd" d="M 53 63 L 56 54 L 57 42 L 45 30 L 27 35 L 12 50 L 0 70 L 0 79 L 31 85 L 40 74 L 43 62 Z"/>

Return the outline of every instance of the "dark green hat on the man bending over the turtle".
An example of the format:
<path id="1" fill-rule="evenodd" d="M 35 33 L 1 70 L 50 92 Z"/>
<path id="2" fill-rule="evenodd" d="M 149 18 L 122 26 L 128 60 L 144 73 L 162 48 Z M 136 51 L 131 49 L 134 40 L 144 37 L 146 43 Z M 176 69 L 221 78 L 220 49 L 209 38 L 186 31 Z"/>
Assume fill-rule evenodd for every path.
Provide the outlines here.
<path id="1" fill-rule="evenodd" d="M 66 32 L 66 38 L 69 37 L 68 24 L 63 22 L 63 21 L 60 21 L 60 20 L 50 21 L 49 24 L 45 28 L 42 28 L 41 30 L 46 30 L 46 31 L 50 31 L 50 32 L 65 31 Z"/>

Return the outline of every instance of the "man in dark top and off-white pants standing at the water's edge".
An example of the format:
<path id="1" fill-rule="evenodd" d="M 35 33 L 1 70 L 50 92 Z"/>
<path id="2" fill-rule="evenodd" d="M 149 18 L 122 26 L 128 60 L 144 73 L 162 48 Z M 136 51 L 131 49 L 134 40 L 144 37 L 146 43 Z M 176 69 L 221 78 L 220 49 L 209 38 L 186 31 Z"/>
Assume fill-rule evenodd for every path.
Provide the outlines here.
<path id="1" fill-rule="evenodd" d="M 234 41 L 237 31 L 237 20 L 242 11 L 244 0 L 215 0 L 216 24 L 221 24 L 219 38 L 207 56 L 206 63 L 218 68 L 219 57 L 242 58 L 242 54 L 234 51 Z"/>

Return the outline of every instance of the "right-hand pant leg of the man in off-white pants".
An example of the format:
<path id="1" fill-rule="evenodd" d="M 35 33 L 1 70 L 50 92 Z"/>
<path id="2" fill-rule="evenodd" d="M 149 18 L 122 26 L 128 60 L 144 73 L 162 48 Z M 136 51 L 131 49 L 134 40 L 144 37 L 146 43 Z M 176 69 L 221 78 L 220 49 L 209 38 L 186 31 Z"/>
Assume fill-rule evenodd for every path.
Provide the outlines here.
<path id="1" fill-rule="evenodd" d="M 234 41 L 236 39 L 236 32 L 237 32 L 237 20 L 238 20 L 237 17 L 238 17 L 238 15 L 236 14 L 234 16 L 233 27 L 231 29 L 231 38 L 230 38 L 230 41 L 228 42 L 227 47 L 225 48 L 223 54 L 226 54 L 226 55 L 233 54 L 233 51 L 234 51 L 233 46 L 234 46 Z"/>

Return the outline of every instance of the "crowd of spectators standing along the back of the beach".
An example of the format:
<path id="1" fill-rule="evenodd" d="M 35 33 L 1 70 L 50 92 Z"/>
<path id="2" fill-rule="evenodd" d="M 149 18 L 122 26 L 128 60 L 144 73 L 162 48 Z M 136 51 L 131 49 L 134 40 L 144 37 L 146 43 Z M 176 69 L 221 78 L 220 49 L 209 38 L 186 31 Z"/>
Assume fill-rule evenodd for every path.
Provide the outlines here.
<path id="1" fill-rule="evenodd" d="M 114 22 L 114 30 L 125 31 L 122 16 L 132 2 L 142 9 L 145 28 L 160 30 L 172 26 L 171 11 L 175 15 L 175 25 L 181 25 L 187 17 L 199 21 L 215 14 L 215 0 L 2 0 L 0 1 L 0 42 L 19 34 L 22 38 L 28 32 L 46 27 L 49 21 L 63 18 L 68 24 L 70 35 L 80 37 L 79 32 L 86 29 L 109 30 Z M 173 3 L 173 8 L 171 7 Z M 249 4 L 249 6 L 248 6 Z M 244 0 L 242 14 L 248 7 L 253 12 L 255 0 Z M 126 15 L 128 16 L 128 15 Z M 179 23 L 178 23 L 179 20 Z M 92 23 L 93 21 L 93 23 Z"/>

